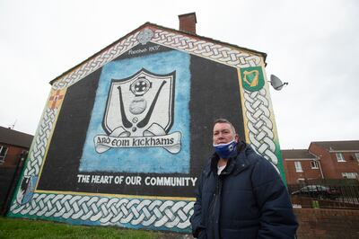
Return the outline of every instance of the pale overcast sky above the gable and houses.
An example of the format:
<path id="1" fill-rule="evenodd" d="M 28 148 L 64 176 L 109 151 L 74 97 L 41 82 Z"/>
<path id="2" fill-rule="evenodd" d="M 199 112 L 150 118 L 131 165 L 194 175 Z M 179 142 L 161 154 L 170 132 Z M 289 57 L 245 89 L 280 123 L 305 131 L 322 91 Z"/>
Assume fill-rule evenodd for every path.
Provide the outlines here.
<path id="1" fill-rule="evenodd" d="M 359 1 L 0 0 L 0 126 L 35 134 L 49 81 L 144 22 L 267 53 L 282 149 L 359 139 Z"/>

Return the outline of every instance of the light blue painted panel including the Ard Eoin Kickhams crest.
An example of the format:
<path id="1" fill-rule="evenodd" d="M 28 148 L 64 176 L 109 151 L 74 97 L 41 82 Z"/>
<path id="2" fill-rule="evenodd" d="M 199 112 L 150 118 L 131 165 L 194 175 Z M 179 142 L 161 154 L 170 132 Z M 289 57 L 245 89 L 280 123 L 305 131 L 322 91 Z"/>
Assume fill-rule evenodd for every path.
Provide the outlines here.
<path id="1" fill-rule="evenodd" d="M 175 91 L 189 90 L 188 69 L 173 50 L 104 66 L 80 171 L 188 173 L 189 92 Z"/>

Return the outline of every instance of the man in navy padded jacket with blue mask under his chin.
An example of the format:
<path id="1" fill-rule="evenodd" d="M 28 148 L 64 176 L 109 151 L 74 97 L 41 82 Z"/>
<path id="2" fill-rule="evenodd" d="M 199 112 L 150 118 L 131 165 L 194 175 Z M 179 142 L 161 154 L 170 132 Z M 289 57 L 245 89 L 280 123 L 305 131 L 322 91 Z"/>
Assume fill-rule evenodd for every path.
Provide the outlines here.
<path id="1" fill-rule="evenodd" d="M 239 140 L 232 123 L 215 120 L 215 154 L 198 181 L 190 218 L 198 238 L 293 238 L 298 226 L 273 164 Z"/>

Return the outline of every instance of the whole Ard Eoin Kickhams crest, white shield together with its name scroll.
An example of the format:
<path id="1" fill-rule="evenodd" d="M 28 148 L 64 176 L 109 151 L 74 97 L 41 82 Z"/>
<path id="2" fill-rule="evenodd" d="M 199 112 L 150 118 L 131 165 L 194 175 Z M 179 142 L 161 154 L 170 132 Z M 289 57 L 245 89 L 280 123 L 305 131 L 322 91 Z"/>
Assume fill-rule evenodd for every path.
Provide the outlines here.
<path id="1" fill-rule="evenodd" d="M 102 120 L 106 135 L 94 137 L 97 153 L 110 148 L 163 147 L 180 152 L 173 124 L 176 72 L 153 74 L 144 68 L 126 79 L 112 79 Z"/>

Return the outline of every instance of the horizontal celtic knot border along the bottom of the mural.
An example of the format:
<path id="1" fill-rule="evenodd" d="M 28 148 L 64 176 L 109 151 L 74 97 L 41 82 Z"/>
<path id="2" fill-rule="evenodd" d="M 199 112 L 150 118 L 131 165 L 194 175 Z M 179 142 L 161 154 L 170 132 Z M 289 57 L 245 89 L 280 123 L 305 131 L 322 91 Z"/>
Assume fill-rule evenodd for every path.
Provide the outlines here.
<path id="1" fill-rule="evenodd" d="M 62 217 L 104 225 L 177 227 L 187 229 L 194 202 L 150 199 L 118 199 L 35 193 L 31 202 L 11 211 L 38 217 Z"/>

